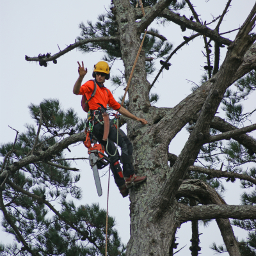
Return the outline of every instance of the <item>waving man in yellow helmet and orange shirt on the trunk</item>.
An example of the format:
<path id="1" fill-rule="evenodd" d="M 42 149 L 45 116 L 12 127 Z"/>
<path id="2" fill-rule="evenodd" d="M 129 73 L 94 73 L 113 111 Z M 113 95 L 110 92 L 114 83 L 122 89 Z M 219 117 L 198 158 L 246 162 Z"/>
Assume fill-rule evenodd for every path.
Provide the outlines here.
<path id="1" fill-rule="evenodd" d="M 77 63 L 79 65 L 79 77 L 74 85 L 73 92 L 76 95 L 86 95 L 86 99 L 90 99 L 94 90 L 94 81 L 90 80 L 82 85 L 83 78 L 87 73 L 87 68 L 84 69 L 83 61 L 82 66 L 78 61 Z M 137 185 L 141 182 L 144 182 L 145 180 L 147 180 L 147 177 L 136 176 L 134 166 L 132 164 L 132 143 L 129 141 L 129 139 L 121 129 L 119 129 L 118 132 L 118 130 L 116 129 L 116 125 L 114 125 L 113 122 L 110 123 L 108 147 L 106 147 L 107 141 L 102 140 L 104 134 L 104 127 L 102 124 L 100 124 L 100 122 L 103 120 L 102 113 L 106 111 L 108 104 L 111 108 L 117 110 L 122 115 L 139 121 L 143 125 L 147 124 L 147 121 L 143 118 L 138 118 L 137 116 L 132 115 L 127 109 L 123 108 L 118 102 L 116 102 L 110 90 L 108 90 L 104 86 L 105 80 L 109 79 L 109 72 L 109 65 L 105 61 L 99 61 L 94 66 L 92 76 L 95 78 L 97 89 L 95 96 L 90 99 L 90 102 L 88 102 L 88 122 L 92 122 L 93 120 L 92 133 L 95 138 L 97 138 L 97 141 L 102 143 L 102 145 L 104 145 L 104 147 L 107 149 L 107 153 L 110 159 L 110 168 L 113 172 L 116 186 L 118 186 L 121 195 L 125 197 L 129 194 L 128 189 L 131 188 L 132 185 Z M 115 153 L 114 142 L 116 144 L 118 143 L 118 146 L 120 146 L 120 148 L 122 149 L 121 156 L 119 156 L 118 151 L 116 151 L 117 154 Z M 122 168 L 118 161 L 119 158 L 121 159 L 121 163 L 123 164 L 124 176 L 122 173 Z"/>

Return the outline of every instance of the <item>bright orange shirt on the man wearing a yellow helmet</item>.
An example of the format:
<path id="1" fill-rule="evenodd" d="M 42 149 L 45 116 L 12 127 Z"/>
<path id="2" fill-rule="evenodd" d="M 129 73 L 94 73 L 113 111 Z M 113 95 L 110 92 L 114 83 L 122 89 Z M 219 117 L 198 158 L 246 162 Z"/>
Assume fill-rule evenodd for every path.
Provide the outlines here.
<path id="1" fill-rule="evenodd" d="M 88 100 L 92 96 L 93 90 L 94 81 L 89 80 L 81 86 L 78 94 L 85 94 L 86 99 Z M 102 104 L 104 108 L 107 108 L 107 104 L 110 108 L 113 108 L 115 110 L 121 108 L 121 105 L 118 102 L 116 102 L 110 90 L 108 90 L 108 88 L 104 86 L 100 87 L 98 84 L 95 96 L 88 102 L 89 109 L 98 109 L 100 105 L 97 103 Z"/>

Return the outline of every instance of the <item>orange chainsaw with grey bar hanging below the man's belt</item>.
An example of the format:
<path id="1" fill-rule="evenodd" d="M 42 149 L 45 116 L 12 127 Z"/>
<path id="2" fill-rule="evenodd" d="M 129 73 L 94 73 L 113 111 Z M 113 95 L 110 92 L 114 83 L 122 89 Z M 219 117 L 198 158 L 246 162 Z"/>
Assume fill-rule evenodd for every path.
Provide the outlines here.
<path id="1" fill-rule="evenodd" d="M 97 189 L 97 193 L 99 196 L 102 195 L 102 188 L 100 184 L 100 177 L 98 170 L 104 168 L 109 164 L 108 157 L 104 154 L 104 146 L 97 143 L 95 140 L 91 140 L 90 132 L 86 131 L 86 140 L 84 141 L 84 146 L 88 148 L 89 154 L 89 163 L 93 171 L 93 177 L 95 180 L 95 185 Z M 92 146 L 92 143 L 94 145 Z"/>

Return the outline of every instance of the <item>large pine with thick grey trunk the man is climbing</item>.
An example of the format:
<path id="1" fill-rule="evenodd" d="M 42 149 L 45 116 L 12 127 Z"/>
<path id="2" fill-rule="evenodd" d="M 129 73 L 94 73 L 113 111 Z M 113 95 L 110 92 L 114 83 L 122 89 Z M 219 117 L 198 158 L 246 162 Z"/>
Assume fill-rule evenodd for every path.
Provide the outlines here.
<path id="1" fill-rule="evenodd" d="M 189 19 L 177 12 L 184 7 L 185 2 L 193 15 Z M 200 20 L 196 7 L 189 0 L 143 1 L 145 16 L 140 8 L 134 8 L 138 1 L 113 0 L 111 11 L 107 15 L 100 15 L 97 24 L 89 22 L 88 27 L 81 24 L 82 33 L 75 44 L 44 60 L 42 56 L 26 56 L 26 60 L 40 61 L 45 66 L 47 61 L 53 61 L 76 47 L 84 52 L 102 50 L 106 54 L 104 60 L 111 62 L 121 59 L 124 62 L 122 74 L 113 79 L 113 83 L 120 86 L 128 81 L 140 47 L 141 35 L 153 20 L 161 25 L 171 21 L 182 32 L 186 29 L 196 32 L 189 37 L 184 36 L 184 42 L 172 49 L 170 43 L 163 42 L 163 36 L 156 29 L 149 31 L 128 90 L 129 101 L 125 106 L 131 113 L 145 117 L 151 125 L 142 127 L 132 121 L 127 122 L 128 136 L 134 145 L 136 170 L 148 176 L 147 184 L 138 189 L 130 189 L 132 228 L 127 255 L 154 255 L 156 252 L 159 255 L 173 255 L 173 249 L 177 248 L 177 228 L 186 221 L 191 221 L 193 230 L 191 254 L 198 255 L 198 221 L 207 223 L 207 220 L 212 219 L 218 223 L 225 243 L 225 248 L 214 245 L 216 250 L 227 250 L 230 255 L 241 255 L 241 252 L 245 254 L 249 249 L 253 251 L 253 243 L 246 248 L 243 242 L 237 241 L 228 220 L 255 219 L 255 204 L 253 200 L 248 200 L 253 197 L 244 196 L 244 204 L 247 205 L 227 205 L 221 198 L 225 188 L 221 183 L 223 178 L 227 182 L 244 180 L 245 186 L 248 186 L 247 182 L 256 184 L 253 172 L 243 173 L 244 170 L 238 168 L 241 164 L 253 162 L 253 154 L 256 152 L 255 139 L 246 134 L 254 131 L 255 125 L 243 127 L 250 115 L 244 114 L 239 104 L 240 100 L 246 99 L 253 86 L 247 89 L 240 82 L 237 86 L 234 84 L 255 68 L 256 36 L 252 29 L 256 5 L 241 28 L 237 29 L 236 38 L 232 41 L 220 33 L 220 25 L 230 8 L 230 2 L 227 2 L 219 17 L 207 23 Z M 216 24 L 214 29 L 209 28 L 210 24 Z M 170 58 L 201 35 L 205 56 L 202 83 L 194 86 L 193 93 L 173 108 L 151 106 L 150 90 L 163 69 L 170 68 Z M 211 44 L 214 44 L 214 50 Z M 227 54 L 221 63 L 220 49 L 225 46 Z M 154 70 L 152 56 L 163 58 L 164 61 L 160 60 L 163 67 L 154 81 L 149 83 L 147 76 Z M 221 102 L 227 120 L 216 116 Z M 186 124 L 189 124 L 191 133 L 182 152 L 179 156 L 169 153 L 169 144 Z M 65 145 L 84 140 L 82 134 L 76 135 L 74 141 L 64 139 L 67 143 Z M 221 157 L 225 159 L 223 164 Z M 17 171 L 14 165 L 11 170 Z M 239 225 L 243 225 L 242 222 Z M 253 237 L 250 241 L 253 242 Z"/>

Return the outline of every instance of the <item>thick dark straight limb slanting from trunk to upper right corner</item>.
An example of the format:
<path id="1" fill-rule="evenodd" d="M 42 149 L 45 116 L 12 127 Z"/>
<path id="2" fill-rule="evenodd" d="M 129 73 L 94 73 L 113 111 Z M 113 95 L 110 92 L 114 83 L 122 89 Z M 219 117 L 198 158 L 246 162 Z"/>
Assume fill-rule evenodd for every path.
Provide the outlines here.
<path id="1" fill-rule="evenodd" d="M 177 161 L 175 161 L 170 175 L 168 175 L 163 187 L 153 200 L 154 204 L 152 205 L 152 209 L 154 209 L 153 215 L 155 218 L 157 218 L 159 213 L 163 211 L 163 207 L 166 205 L 166 202 L 173 200 L 173 196 L 175 196 L 179 189 L 188 167 L 194 164 L 195 159 L 200 152 L 200 148 L 202 147 L 202 143 L 200 141 L 202 136 L 199 137 L 198 135 L 200 135 L 200 133 L 203 135 L 209 134 L 211 120 L 216 114 L 224 93 L 232 84 L 234 74 L 236 74 L 237 69 L 243 63 L 243 58 L 241 58 L 241 56 L 244 56 L 248 48 L 254 42 L 254 37 L 248 36 L 248 33 L 250 33 L 254 25 L 255 17 L 253 13 L 256 9 L 255 6 L 249 15 L 250 19 L 246 19 L 246 22 L 244 22 L 243 26 L 237 33 L 236 39 L 232 45 L 230 45 L 225 61 L 223 61 L 220 71 L 215 75 L 214 81 L 210 79 L 210 81 L 212 81 L 211 90 L 207 93 L 207 99 L 204 102 L 204 106 L 196 122 L 195 128 L 191 132 Z M 188 106 L 188 102 L 186 102 L 186 104 Z M 211 106 L 211 108 L 208 108 L 208 106 Z M 174 114 L 175 113 L 173 113 L 173 115 Z M 159 124 L 160 123 L 161 122 L 159 122 Z M 159 134 L 161 134 L 161 132 L 159 132 Z M 164 138 L 166 139 L 166 134 Z"/>

